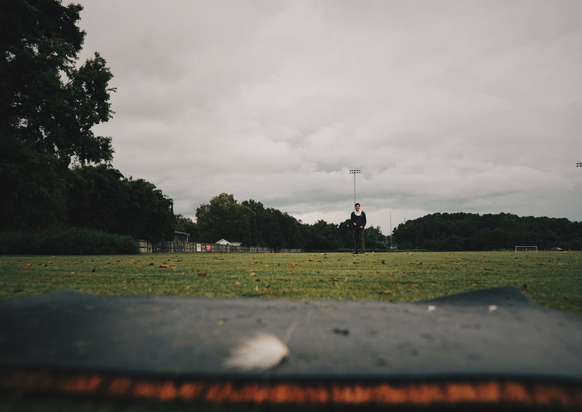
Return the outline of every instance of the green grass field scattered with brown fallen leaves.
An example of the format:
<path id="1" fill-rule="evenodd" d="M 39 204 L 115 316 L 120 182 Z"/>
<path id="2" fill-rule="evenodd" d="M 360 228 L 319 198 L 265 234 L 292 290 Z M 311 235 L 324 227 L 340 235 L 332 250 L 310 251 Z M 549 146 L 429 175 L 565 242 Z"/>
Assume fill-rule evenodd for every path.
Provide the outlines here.
<path id="1" fill-rule="evenodd" d="M 581 260 L 566 252 L 1 256 L 0 300 L 66 289 L 399 302 L 514 286 L 546 308 L 582 313 Z"/>

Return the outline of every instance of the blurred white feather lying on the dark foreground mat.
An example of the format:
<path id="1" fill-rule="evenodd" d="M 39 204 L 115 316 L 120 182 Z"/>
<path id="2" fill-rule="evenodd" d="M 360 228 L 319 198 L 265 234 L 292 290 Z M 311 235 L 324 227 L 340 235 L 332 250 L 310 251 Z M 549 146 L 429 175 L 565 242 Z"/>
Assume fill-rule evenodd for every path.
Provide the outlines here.
<path id="1" fill-rule="evenodd" d="M 225 364 L 243 371 L 264 371 L 281 363 L 288 354 L 289 348 L 279 338 L 258 333 L 253 338 L 241 340 Z"/>

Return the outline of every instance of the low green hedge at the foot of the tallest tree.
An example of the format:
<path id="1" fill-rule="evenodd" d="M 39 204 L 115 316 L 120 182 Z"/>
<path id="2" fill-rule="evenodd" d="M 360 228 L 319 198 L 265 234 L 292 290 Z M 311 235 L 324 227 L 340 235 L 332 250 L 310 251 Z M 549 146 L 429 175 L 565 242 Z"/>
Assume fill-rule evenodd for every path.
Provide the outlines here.
<path id="1" fill-rule="evenodd" d="M 109 255 L 137 254 L 133 237 L 85 228 L 0 231 L 0 254 Z"/>

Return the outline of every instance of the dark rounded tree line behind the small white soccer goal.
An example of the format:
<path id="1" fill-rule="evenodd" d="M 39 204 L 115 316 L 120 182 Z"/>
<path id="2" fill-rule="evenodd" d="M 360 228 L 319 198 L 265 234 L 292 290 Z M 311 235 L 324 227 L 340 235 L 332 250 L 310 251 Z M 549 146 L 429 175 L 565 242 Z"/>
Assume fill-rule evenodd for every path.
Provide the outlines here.
<path id="1" fill-rule="evenodd" d="M 401 223 L 393 242 L 402 249 L 498 250 L 516 246 L 582 249 L 582 222 L 508 213 L 435 213 Z"/>

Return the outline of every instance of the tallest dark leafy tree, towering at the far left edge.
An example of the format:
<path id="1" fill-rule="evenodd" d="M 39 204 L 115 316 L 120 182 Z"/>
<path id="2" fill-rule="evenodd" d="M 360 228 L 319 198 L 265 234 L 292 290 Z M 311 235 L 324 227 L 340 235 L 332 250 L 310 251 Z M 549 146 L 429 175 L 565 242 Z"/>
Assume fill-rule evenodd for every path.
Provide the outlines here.
<path id="1" fill-rule="evenodd" d="M 111 138 L 91 127 L 112 112 L 105 60 L 76 68 L 81 5 L 3 0 L 0 13 L 0 227 L 63 219 L 70 162 L 111 162 Z"/>

